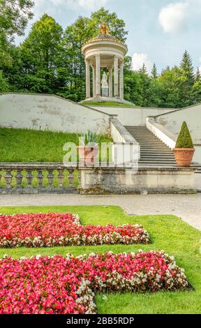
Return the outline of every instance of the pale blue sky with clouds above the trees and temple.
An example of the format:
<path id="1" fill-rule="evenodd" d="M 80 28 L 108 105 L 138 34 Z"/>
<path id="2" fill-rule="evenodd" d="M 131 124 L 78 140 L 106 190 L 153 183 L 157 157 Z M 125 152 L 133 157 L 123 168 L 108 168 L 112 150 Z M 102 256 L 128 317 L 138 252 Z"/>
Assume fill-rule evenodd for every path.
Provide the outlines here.
<path id="1" fill-rule="evenodd" d="M 201 0 L 35 0 L 34 21 L 43 13 L 66 27 L 79 15 L 89 16 L 101 6 L 126 22 L 128 54 L 133 69 L 154 62 L 160 71 L 178 65 L 184 50 L 201 70 Z M 29 32 L 27 28 L 27 33 Z M 22 39 L 21 39 L 22 40 Z M 19 40 L 17 40 L 19 42 Z"/>

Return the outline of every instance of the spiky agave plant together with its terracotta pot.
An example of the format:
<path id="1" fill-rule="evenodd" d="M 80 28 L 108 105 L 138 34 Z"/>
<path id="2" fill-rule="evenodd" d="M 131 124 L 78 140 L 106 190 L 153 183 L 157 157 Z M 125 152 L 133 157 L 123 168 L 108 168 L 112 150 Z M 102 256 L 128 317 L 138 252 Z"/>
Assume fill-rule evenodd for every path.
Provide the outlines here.
<path id="1" fill-rule="evenodd" d="M 82 165 L 94 165 L 98 156 L 100 135 L 96 132 L 88 131 L 86 135 L 78 136 L 78 138 L 79 146 L 77 146 L 77 150 Z"/>

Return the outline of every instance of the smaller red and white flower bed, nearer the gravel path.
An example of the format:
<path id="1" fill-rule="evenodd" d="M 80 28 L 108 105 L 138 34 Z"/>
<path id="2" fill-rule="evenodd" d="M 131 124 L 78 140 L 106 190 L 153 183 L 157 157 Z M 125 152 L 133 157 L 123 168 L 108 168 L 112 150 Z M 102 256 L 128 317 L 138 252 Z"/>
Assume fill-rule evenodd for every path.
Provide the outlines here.
<path id="1" fill-rule="evenodd" d="M 141 225 L 81 225 L 75 214 L 0 215 L 0 247 L 149 244 Z"/>

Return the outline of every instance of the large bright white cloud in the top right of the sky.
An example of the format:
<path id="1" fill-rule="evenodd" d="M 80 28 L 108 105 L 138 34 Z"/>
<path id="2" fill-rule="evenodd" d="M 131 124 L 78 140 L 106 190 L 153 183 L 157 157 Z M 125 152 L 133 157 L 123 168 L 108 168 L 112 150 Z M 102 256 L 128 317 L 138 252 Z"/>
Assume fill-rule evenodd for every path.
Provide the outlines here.
<path id="1" fill-rule="evenodd" d="M 161 9 L 158 20 L 165 33 L 177 33 L 187 27 L 188 2 L 170 3 Z"/>

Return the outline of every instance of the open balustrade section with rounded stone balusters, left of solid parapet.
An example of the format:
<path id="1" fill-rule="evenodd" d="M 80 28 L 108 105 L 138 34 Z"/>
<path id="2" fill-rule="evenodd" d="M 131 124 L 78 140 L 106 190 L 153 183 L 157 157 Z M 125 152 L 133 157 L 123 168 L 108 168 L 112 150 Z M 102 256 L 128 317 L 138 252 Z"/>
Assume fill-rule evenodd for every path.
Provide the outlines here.
<path id="1" fill-rule="evenodd" d="M 0 163 L 0 194 L 77 193 L 80 171 L 63 163 Z"/>

